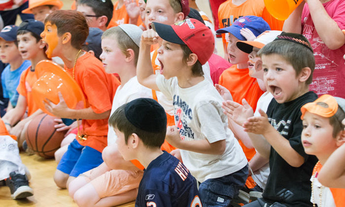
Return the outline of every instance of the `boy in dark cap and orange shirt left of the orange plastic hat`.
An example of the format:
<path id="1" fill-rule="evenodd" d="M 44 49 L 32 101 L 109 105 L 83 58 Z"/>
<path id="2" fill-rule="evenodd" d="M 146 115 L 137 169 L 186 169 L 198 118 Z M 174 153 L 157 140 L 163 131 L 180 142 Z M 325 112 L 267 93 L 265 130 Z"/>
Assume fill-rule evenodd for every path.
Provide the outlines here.
<path id="1" fill-rule="evenodd" d="M 35 104 L 31 94 L 31 87 L 37 80 L 35 66 L 39 61 L 47 59 L 44 53 L 46 45 L 39 36 L 43 30 L 42 22 L 26 20 L 19 25 L 17 31 L 18 50 L 24 60 L 30 60 L 31 67 L 24 70 L 20 76 L 17 88 L 19 97 L 16 107 L 6 113 L 2 120 L 9 133 L 17 137 L 18 147 L 22 147 L 30 121 L 43 113 Z M 26 110 L 28 110 L 28 117 L 22 119 Z"/>

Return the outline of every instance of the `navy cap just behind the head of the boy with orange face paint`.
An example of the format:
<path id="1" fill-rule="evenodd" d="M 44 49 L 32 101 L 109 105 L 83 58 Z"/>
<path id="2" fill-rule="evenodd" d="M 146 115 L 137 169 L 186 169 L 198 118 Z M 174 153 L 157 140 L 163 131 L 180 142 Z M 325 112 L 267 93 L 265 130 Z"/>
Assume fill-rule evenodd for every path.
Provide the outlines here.
<path id="1" fill-rule="evenodd" d="M 89 35 L 87 36 L 83 45 L 86 45 L 89 50 L 94 51 L 95 57 L 100 59 L 100 55 L 102 54 L 102 35 L 103 31 L 99 28 L 89 28 Z"/>

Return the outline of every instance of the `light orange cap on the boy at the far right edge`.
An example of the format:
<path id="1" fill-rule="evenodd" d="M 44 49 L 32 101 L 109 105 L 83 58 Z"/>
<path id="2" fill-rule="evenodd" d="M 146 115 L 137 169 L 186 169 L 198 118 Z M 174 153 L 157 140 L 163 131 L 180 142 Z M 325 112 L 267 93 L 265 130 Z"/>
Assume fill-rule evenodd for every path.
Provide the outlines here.
<path id="1" fill-rule="evenodd" d="M 321 102 L 327 104 L 328 106 L 325 107 L 325 105 L 318 104 Z M 339 104 L 341 108 L 343 108 L 344 110 L 344 106 L 345 106 L 344 103 L 345 103 L 345 100 L 342 98 L 333 97 L 331 95 L 324 94 L 320 96 L 320 98 L 316 99 L 314 102 L 304 104 L 301 107 L 301 112 L 302 112 L 301 119 L 303 119 L 303 116 L 306 113 L 306 111 L 309 111 L 313 114 L 326 117 L 326 118 L 331 117 L 337 113 Z"/>

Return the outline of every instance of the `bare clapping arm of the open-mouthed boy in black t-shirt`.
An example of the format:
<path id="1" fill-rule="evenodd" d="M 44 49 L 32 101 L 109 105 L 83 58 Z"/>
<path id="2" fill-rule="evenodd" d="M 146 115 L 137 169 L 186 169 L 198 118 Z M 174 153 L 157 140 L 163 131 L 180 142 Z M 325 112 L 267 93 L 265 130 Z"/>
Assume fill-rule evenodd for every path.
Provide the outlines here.
<path id="1" fill-rule="evenodd" d="M 292 167 L 300 167 L 305 159 L 292 146 L 288 139 L 281 136 L 269 123 L 267 114 L 259 109 L 261 116 L 250 117 L 244 124 L 244 131 L 263 135 L 276 152 Z M 255 146 L 255 143 L 253 143 Z M 258 150 L 259 151 L 259 150 Z M 260 152 L 260 151 L 259 151 Z M 261 152 L 260 152 L 261 153 Z M 264 156 L 265 157 L 265 156 Z"/>

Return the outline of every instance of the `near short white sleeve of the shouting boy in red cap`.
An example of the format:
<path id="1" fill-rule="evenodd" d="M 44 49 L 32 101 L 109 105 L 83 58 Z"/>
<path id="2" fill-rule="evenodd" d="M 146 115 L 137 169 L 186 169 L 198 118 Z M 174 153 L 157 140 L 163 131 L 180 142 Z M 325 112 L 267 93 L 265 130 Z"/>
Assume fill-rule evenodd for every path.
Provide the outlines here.
<path id="1" fill-rule="evenodd" d="M 224 129 L 224 122 L 226 120 L 222 120 L 222 113 L 220 104 L 214 101 L 209 101 L 197 108 L 201 133 L 207 138 L 209 143 L 226 139 Z"/>

